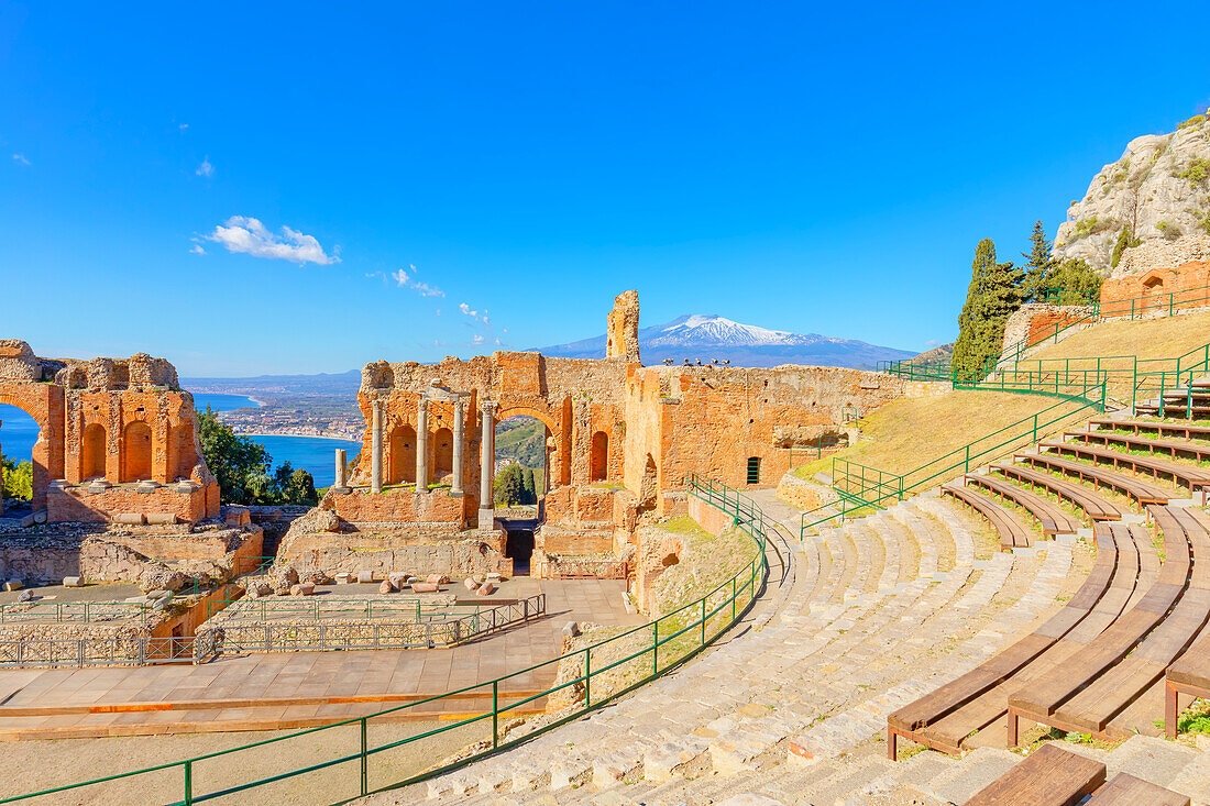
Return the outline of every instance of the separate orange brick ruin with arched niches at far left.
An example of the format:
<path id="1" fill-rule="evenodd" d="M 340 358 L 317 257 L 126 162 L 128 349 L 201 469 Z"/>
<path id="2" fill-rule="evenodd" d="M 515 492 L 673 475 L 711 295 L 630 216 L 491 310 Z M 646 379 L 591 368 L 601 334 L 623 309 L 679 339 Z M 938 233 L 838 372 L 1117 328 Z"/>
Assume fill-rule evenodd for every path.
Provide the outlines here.
<path id="1" fill-rule="evenodd" d="M 0 340 L 0 403 L 41 430 L 33 505 L 51 523 L 218 516 L 194 398 L 163 358 L 46 359 L 24 341 Z"/>

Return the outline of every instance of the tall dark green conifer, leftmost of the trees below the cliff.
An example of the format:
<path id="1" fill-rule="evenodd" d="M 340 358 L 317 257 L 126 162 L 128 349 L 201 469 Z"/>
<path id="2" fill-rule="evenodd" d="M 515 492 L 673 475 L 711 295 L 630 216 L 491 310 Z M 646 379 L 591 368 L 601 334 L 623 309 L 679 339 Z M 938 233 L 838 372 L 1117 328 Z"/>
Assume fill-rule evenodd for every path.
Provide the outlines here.
<path id="1" fill-rule="evenodd" d="M 1024 272 L 1009 263 L 996 261 L 996 244 L 984 238 L 975 247 L 970 265 L 967 301 L 958 316 L 958 339 L 953 345 L 953 369 L 968 380 L 989 358 L 999 356 L 1004 323 L 1021 306 Z"/>

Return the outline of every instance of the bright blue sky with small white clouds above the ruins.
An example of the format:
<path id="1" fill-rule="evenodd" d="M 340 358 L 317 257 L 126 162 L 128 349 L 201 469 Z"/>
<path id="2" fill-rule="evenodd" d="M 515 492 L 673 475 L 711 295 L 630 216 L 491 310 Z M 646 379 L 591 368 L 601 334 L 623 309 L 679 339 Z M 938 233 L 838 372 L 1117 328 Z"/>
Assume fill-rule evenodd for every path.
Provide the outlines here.
<path id="1" fill-rule="evenodd" d="M 0 335 L 341 372 L 638 288 L 923 350 L 1210 99 L 1205 2 L 356 5 L 0 0 Z"/>

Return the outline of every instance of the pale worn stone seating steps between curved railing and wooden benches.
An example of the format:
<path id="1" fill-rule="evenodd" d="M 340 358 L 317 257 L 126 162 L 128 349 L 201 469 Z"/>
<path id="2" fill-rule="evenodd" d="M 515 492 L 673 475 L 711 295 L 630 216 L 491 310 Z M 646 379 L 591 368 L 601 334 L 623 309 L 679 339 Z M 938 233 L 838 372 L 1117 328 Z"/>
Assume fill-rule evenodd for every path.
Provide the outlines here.
<path id="1" fill-rule="evenodd" d="M 794 523 L 789 507 L 757 497 L 766 516 Z M 961 508 L 926 495 L 825 530 L 793 558 L 748 623 L 682 669 L 519 748 L 367 802 L 963 802 L 1021 759 L 978 748 L 897 764 L 882 730 L 889 712 L 1061 606 L 1081 581 L 1072 543 L 993 552 Z M 1168 759 L 1171 776 L 1158 776 L 1159 764 L 1128 766 L 1147 754 Z M 1106 762 L 1210 798 L 1210 755 L 1192 748 L 1140 736 Z"/>

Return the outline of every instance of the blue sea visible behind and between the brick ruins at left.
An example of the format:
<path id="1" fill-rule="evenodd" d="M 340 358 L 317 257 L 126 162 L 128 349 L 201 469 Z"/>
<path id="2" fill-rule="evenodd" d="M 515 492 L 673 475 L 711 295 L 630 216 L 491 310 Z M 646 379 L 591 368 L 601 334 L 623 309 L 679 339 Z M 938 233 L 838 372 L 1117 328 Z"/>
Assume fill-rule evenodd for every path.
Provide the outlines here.
<path id="1" fill-rule="evenodd" d="M 231 411 L 244 407 L 259 405 L 250 397 L 242 395 L 211 395 L 194 392 L 194 408 L 204 411 L 209 405 L 214 411 Z M 362 449 L 359 442 L 348 439 L 329 439 L 325 437 L 253 437 L 272 456 L 276 468 L 288 461 L 295 468 L 311 473 L 316 487 L 332 487 L 336 480 L 335 450 L 344 448 L 352 459 Z M 38 442 L 38 424 L 31 416 L 15 405 L 0 404 L 0 454 L 13 461 L 27 461 Z"/>

